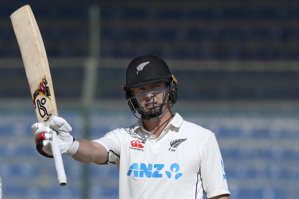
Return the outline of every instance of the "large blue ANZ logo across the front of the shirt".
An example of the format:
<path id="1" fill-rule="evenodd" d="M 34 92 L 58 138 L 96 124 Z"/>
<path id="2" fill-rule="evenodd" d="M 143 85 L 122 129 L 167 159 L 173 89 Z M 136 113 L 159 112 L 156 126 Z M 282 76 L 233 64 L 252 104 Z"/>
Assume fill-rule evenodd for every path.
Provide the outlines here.
<path id="1" fill-rule="evenodd" d="M 143 178 L 144 176 L 147 178 L 162 178 L 164 174 L 168 178 L 171 178 L 174 176 L 174 179 L 178 179 L 183 174 L 178 173 L 180 170 L 180 166 L 177 163 L 173 163 L 170 165 L 169 169 L 166 169 L 166 171 L 163 172 L 164 164 L 144 164 L 141 163 L 140 165 L 138 163 L 133 163 L 127 173 L 128 176 L 130 176 L 133 173 L 133 176 L 135 178 Z"/>

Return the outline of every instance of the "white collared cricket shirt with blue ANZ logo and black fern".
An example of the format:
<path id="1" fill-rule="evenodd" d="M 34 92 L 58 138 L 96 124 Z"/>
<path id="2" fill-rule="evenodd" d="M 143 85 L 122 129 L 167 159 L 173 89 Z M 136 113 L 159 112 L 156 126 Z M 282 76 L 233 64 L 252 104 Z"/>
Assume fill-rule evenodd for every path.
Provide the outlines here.
<path id="1" fill-rule="evenodd" d="M 94 140 L 119 170 L 120 199 L 195 199 L 230 194 L 215 134 L 174 118 L 156 139 L 142 120 Z"/>

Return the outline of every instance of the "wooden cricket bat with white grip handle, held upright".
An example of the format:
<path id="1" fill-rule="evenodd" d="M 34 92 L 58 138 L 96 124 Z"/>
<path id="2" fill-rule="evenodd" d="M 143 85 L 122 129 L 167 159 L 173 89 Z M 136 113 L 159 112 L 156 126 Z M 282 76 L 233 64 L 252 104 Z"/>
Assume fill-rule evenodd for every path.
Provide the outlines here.
<path id="1" fill-rule="evenodd" d="M 58 116 L 58 113 L 44 42 L 31 7 L 26 5 L 19 8 L 10 19 L 21 50 L 37 120 L 50 125 L 51 118 Z M 51 148 L 58 182 L 65 186 L 66 175 L 55 131 Z"/>

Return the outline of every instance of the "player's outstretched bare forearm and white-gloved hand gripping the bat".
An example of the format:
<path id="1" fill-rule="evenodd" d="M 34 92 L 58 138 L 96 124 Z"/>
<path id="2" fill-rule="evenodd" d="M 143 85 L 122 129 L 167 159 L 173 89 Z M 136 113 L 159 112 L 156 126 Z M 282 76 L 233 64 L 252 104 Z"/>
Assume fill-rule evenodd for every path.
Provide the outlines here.
<path id="1" fill-rule="evenodd" d="M 63 118 L 53 116 L 50 127 L 43 123 L 35 123 L 31 132 L 36 140 L 36 149 L 48 158 L 53 158 L 51 150 L 52 131 L 57 132 L 61 154 L 71 155 L 80 162 L 95 162 L 105 164 L 108 162 L 107 150 L 99 143 L 85 139 L 75 140 L 69 132 L 72 127 Z"/>

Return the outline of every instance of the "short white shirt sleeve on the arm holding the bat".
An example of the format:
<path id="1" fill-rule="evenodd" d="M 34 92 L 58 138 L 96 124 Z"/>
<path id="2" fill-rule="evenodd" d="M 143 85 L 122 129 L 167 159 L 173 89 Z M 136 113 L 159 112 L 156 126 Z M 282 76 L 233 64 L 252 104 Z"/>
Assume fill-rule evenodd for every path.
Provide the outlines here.
<path id="1" fill-rule="evenodd" d="M 119 165 L 120 149 L 121 149 L 121 129 L 108 132 L 102 138 L 93 140 L 104 146 L 108 152 L 109 160 L 107 164 Z"/>

